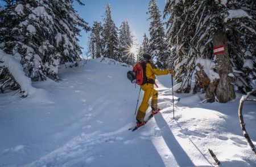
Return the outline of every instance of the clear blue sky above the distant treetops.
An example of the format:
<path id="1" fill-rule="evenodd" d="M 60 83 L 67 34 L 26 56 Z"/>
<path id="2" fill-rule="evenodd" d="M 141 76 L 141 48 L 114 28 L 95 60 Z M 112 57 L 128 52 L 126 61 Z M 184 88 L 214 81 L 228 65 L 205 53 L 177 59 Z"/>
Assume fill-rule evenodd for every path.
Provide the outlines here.
<path id="1" fill-rule="evenodd" d="M 123 20 L 127 19 L 133 31 L 137 43 L 141 44 L 143 35 L 148 35 L 150 20 L 146 12 L 148 11 L 148 3 L 150 0 L 82 0 L 85 6 L 75 5 L 75 10 L 91 27 L 94 21 L 102 22 L 105 14 L 106 3 L 110 3 L 112 7 L 112 18 L 115 25 L 119 28 Z M 163 12 L 165 0 L 158 0 L 158 7 Z M 163 15 L 163 14 L 162 14 Z M 88 33 L 84 31 L 79 38 L 82 48 L 87 49 Z"/>

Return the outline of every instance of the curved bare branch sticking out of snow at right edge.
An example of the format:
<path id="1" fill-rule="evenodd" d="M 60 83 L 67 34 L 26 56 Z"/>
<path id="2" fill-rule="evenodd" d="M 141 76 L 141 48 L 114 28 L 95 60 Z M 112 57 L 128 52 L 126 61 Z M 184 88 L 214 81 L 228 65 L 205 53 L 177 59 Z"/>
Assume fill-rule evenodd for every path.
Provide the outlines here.
<path id="1" fill-rule="evenodd" d="M 240 100 L 240 106 L 238 108 L 238 116 L 239 116 L 239 119 L 240 119 L 240 126 L 241 126 L 241 129 L 242 129 L 242 132 L 243 132 L 243 136 L 245 136 L 245 139 L 247 140 L 247 143 L 250 145 L 251 149 L 253 150 L 253 152 L 256 155 L 255 146 L 254 146 L 253 142 L 251 142 L 250 136 L 249 136 L 249 134 L 247 133 L 247 131 L 245 129 L 245 122 L 243 122 L 243 115 L 242 115 L 243 102 L 245 102 L 245 101 L 255 101 L 256 102 L 255 99 L 248 99 L 248 97 L 251 95 L 251 93 L 253 93 L 255 91 L 256 90 L 253 89 L 253 91 L 249 92 L 247 95 L 242 96 L 242 98 Z"/>

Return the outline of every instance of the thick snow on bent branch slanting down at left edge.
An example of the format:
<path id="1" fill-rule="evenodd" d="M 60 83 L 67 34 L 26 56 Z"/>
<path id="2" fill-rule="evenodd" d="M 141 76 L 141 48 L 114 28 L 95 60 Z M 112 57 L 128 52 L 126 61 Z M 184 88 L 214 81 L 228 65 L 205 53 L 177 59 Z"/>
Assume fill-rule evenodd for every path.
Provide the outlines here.
<path id="1" fill-rule="evenodd" d="M 22 65 L 16 61 L 13 55 L 6 54 L 0 49 L 0 61 L 1 67 L 6 67 L 10 74 L 13 75 L 15 81 L 20 85 L 20 89 L 23 92 L 23 96 L 32 95 L 35 92 L 35 88 L 31 85 L 31 78 L 28 78 L 23 71 Z"/>

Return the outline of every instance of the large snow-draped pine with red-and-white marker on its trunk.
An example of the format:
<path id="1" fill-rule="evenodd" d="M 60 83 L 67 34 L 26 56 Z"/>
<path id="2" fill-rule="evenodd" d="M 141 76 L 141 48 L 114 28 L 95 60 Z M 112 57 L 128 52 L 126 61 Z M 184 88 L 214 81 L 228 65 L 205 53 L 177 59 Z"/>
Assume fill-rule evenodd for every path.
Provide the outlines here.
<path id="1" fill-rule="evenodd" d="M 245 53 L 255 55 L 255 20 L 250 16 L 255 5 L 254 1 L 246 2 L 250 8 L 238 1 L 167 2 L 164 15 L 171 14 L 167 38 L 176 47 L 179 91 L 198 92 L 204 88 L 209 101 L 216 97 L 226 102 L 234 99 L 232 84 L 244 92 L 253 87 L 241 66 Z M 220 45 L 224 45 L 225 52 L 214 55 L 213 48 Z M 255 71 L 255 62 L 250 68 Z M 255 78 L 255 72 L 251 78 Z"/>

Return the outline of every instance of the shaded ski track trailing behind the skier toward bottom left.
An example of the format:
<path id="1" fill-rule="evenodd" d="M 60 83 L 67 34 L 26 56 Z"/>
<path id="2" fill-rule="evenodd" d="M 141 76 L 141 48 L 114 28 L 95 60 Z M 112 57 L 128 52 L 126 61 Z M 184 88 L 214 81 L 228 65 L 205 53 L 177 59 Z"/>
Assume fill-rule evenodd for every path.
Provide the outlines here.
<path id="1" fill-rule="evenodd" d="M 127 131 L 128 126 L 122 127 L 118 131 L 103 133 L 101 131 L 92 134 L 77 136 L 59 149 L 42 157 L 38 161 L 32 162 L 26 166 L 80 166 L 86 165 L 100 156 L 97 147 L 102 144 L 112 144 L 122 142 L 124 139 L 119 136 Z"/>

